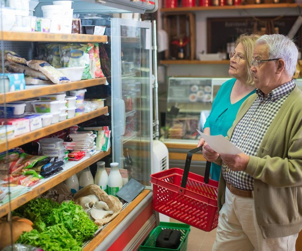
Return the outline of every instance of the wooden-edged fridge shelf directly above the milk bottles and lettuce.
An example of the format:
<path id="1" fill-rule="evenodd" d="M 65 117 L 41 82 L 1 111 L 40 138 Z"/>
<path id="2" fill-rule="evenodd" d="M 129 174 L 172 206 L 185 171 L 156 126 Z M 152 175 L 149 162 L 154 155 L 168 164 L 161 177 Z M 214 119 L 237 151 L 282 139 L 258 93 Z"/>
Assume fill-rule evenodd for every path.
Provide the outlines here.
<path id="1" fill-rule="evenodd" d="M 35 186 L 32 187 L 32 190 L 26 192 L 25 194 L 22 194 L 15 199 L 12 199 L 10 203 L 11 210 L 22 206 L 26 202 L 34 199 L 36 196 L 42 194 L 43 192 L 46 192 L 48 189 L 56 186 L 70 176 L 83 170 L 87 166 L 90 166 L 94 162 L 104 158 L 108 154 L 110 154 L 110 149 L 108 152 L 96 152 L 93 156 L 84 157 L 79 161 L 69 161 L 67 164 L 65 164 L 64 170 L 62 172 L 59 172 L 50 178 L 40 180 Z M 0 204 L 0 218 L 8 213 L 9 202 L 5 203 L 4 205 Z"/>

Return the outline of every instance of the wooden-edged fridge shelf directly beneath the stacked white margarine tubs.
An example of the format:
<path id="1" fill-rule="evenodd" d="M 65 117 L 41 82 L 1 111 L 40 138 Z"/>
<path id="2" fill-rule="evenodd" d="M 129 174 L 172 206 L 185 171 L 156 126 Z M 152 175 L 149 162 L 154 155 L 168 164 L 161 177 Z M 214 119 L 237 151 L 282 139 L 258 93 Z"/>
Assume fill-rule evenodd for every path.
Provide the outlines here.
<path id="1" fill-rule="evenodd" d="M 1 142 L 0 143 L 0 152 L 4 152 L 4 151 L 6 151 L 6 149 L 8 149 L 8 150 L 12 149 L 14 147 L 20 146 L 22 144 L 31 142 L 31 141 L 39 139 L 39 138 L 42 138 L 42 137 L 52 134 L 54 132 L 63 130 L 70 126 L 74 126 L 78 123 L 84 122 L 89 119 L 93 119 L 95 117 L 98 117 L 98 116 L 106 114 L 106 113 L 108 113 L 108 106 L 105 106 L 100 109 L 96 109 L 92 112 L 84 113 L 83 115 L 79 115 L 79 116 L 76 116 L 71 119 L 66 119 L 64 121 L 58 122 L 56 124 L 52 124 L 50 126 L 42 127 L 40 129 L 37 129 L 32 132 L 22 134 L 20 136 L 9 139 L 7 141 L 7 148 L 6 148 L 6 142 L 5 141 Z"/>

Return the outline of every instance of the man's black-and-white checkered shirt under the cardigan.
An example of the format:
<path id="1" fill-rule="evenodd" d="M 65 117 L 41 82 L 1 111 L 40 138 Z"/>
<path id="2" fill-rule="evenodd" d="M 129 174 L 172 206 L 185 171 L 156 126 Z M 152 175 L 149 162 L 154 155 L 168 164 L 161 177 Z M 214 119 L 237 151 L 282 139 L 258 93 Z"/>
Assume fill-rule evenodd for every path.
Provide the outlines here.
<path id="1" fill-rule="evenodd" d="M 230 141 L 246 155 L 256 156 L 269 125 L 294 87 L 295 82 L 292 79 L 274 89 L 266 97 L 261 90 L 256 89 L 258 97 L 235 127 Z M 221 170 L 229 184 L 239 189 L 254 190 L 254 179 L 246 172 L 232 171 L 225 163 L 222 163 Z"/>

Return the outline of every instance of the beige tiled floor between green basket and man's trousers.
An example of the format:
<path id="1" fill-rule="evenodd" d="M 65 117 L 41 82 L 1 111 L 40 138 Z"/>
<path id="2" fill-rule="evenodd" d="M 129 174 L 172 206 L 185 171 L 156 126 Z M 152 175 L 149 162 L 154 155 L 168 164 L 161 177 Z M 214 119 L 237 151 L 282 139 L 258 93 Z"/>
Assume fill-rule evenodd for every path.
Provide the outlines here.
<path id="1" fill-rule="evenodd" d="M 180 223 L 172 218 L 170 218 L 170 222 Z M 187 251 L 211 251 L 215 237 L 216 229 L 211 232 L 204 232 L 191 226 Z"/>

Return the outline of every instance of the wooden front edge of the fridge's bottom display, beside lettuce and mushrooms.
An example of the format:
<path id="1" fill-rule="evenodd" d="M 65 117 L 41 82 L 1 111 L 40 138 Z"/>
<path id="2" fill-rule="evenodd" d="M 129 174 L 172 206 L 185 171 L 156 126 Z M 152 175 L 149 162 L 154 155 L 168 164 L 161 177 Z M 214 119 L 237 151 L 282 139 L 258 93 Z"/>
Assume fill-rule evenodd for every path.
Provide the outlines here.
<path id="1" fill-rule="evenodd" d="M 116 216 L 111 223 L 106 226 L 97 236 L 95 236 L 83 251 L 94 250 L 114 229 L 122 222 L 123 219 L 151 192 L 151 190 L 143 190 L 118 216 Z"/>

